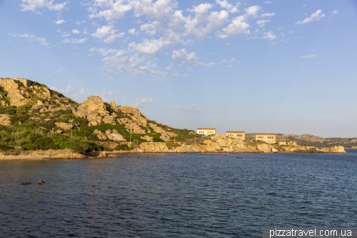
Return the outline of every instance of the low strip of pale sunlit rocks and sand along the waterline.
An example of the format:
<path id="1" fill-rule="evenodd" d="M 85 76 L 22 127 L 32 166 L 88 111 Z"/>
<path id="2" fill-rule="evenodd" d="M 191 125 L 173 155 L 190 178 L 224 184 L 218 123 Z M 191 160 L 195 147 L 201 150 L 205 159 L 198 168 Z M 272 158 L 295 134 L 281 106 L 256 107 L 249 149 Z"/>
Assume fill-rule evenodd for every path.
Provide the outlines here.
<path id="1" fill-rule="evenodd" d="M 127 153 L 346 153 L 343 147 L 321 148 L 278 146 L 265 142 L 241 141 L 222 134 L 206 139 L 203 142 L 121 142 L 129 150 L 115 151 L 116 143 L 105 144 L 109 151 L 78 152 L 74 149 L 59 149 L 46 151 L 21 151 L 16 153 L 1 153 L 1 159 L 102 159 L 121 157 Z"/>

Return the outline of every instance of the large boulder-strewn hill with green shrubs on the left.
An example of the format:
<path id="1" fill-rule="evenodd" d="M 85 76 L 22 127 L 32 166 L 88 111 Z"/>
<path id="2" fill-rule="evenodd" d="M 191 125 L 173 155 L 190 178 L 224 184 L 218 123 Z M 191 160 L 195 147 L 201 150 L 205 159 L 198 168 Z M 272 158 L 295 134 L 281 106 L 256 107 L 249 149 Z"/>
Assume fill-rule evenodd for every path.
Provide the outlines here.
<path id="1" fill-rule="evenodd" d="M 134 107 L 108 104 L 99 96 L 79 104 L 28 79 L 0 78 L 0 101 L 0 150 L 91 150 L 103 149 L 99 142 L 169 142 L 174 137 L 185 141 L 195 134 L 152 121 Z"/>

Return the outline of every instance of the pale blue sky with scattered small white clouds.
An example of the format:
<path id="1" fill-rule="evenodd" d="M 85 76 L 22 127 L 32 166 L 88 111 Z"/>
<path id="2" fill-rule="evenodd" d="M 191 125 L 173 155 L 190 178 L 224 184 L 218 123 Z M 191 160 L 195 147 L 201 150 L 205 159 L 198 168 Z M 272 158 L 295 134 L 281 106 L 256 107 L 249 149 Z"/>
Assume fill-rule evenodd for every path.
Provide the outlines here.
<path id="1" fill-rule="evenodd" d="M 0 0 L 0 77 L 161 124 L 357 137 L 357 1 Z"/>

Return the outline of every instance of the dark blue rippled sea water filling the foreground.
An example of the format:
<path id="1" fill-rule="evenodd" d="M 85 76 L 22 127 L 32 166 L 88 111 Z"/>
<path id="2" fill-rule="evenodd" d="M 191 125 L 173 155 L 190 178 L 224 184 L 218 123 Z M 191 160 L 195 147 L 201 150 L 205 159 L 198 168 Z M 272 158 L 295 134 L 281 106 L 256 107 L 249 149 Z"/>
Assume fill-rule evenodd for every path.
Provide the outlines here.
<path id="1" fill-rule="evenodd" d="M 356 227 L 357 149 L 347 151 L 0 161 L 0 237 L 262 237 L 263 227 Z"/>

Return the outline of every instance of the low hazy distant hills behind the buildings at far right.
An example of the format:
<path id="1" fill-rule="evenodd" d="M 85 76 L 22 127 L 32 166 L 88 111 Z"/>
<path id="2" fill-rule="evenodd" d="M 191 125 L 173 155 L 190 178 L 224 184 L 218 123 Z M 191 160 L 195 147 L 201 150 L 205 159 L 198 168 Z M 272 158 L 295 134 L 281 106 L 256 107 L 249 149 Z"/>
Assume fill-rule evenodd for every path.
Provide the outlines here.
<path id="1" fill-rule="evenodd" d="M 256 134 L 246 134 L 246 139 L 256 139 Z M 324 138 L 313 136 L 312 134 L 276 134 L 276 141 L 283 140 L 286 142 L 296 142 L 300 146 L 310 147 L 345 147 L 357 149 L 357 137 L 354 138 Z"/>

